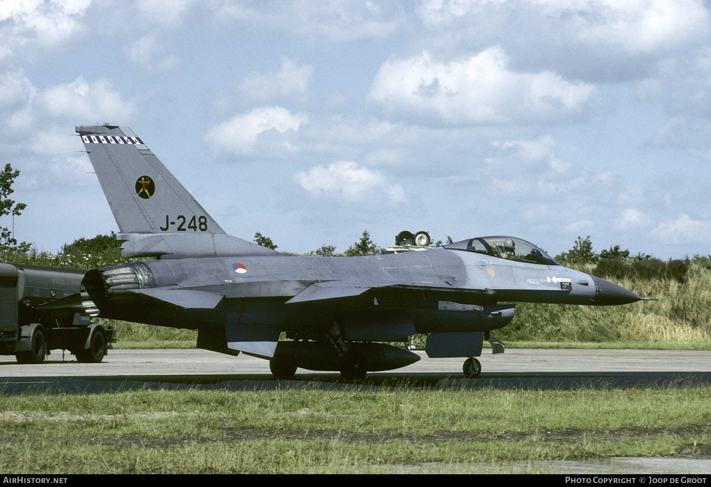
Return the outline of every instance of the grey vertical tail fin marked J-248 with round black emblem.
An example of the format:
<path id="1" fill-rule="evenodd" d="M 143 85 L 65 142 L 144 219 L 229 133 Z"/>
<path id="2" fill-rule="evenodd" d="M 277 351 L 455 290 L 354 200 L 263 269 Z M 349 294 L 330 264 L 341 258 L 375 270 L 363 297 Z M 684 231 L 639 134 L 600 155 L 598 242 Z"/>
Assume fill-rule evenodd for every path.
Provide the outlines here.
<path id="1" fill-rule="evenodd" d="M 116 223 L 124 257 L 280 255 L 225 234 L 128 127 L 77 125 Z"/>

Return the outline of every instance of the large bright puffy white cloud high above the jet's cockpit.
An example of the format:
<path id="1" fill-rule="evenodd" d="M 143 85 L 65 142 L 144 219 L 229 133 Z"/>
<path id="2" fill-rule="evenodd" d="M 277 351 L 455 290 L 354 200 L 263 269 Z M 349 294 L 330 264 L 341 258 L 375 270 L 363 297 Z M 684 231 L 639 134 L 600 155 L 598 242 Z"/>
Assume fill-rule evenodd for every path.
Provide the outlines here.
<path id="1" fill-rule="evenodd" d="M 493 47 L 463 60 L 390 58 L 378 70 L 369 100 L 389 114 L 448 124 L 510 123 L 581 114 L 597 94 L 550 71 L 517 73 Z"/>

